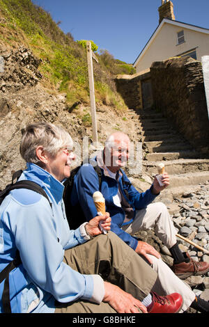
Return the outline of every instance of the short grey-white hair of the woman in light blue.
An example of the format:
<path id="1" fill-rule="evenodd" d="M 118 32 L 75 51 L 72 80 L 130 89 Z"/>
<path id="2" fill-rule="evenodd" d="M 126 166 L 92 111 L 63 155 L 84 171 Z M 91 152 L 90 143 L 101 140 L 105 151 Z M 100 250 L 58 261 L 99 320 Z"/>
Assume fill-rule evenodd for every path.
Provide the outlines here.
<path id="1" fill-rule="evenodd" d="M 38 146 L 41 145 L 44 150 L 55 156 L 61 147 L 72 147 L 72 144 L 70 134 L 62 127 L 49 122 L 37 122 L 22 129 L 20 154 L 26 162 L 38 164 Z"/>

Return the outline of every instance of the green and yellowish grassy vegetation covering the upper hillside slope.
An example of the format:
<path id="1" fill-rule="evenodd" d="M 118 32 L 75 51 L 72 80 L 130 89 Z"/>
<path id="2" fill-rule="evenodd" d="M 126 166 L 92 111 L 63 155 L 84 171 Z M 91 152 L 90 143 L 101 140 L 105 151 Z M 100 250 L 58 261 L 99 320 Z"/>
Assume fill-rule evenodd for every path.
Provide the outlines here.
<path id="1" fill-rule="evenodd" d="M 31 0 L 0 0 L 0 46 L 25 45 L 41 59 L 39 70 L 45 87 L 59 88 L 67 95 L 69 108 L 75 102 L 89 104 L 88 68 L 85 40 L 75 42 L 71 33 L 63 33 L 59 22 Z M 93 51 L 98 49 L 92 42 Z M 131 65 L 114 59 L 107 50 L 100 51 L 94 65 L 96 102 L 126 109 L 116 92 L 116 74 L 133 74 Z M 84 116 L 88 122 L 89 117 Z"/>

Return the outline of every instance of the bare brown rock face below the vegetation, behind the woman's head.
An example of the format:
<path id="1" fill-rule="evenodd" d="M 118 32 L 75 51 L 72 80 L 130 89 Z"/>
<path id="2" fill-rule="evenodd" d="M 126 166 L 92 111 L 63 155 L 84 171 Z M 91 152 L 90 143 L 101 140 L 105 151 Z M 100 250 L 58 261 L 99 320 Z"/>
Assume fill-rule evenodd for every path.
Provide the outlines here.
<path id="1" fill-rule="evenodd" d="M 25 167 L 19 145 L 21 129 L 27 124 L 47 121 L 62 125 L 81 147 L 85 136 L 88 143 L 92 143 L 92 128 L 82 121 L 82 115 L 90 112 L 88 105 L 79 104 L 69 112 L 65 94 L 55 88 L 45 88 L 44 78 L 38 70 L 40 61 L 29 49 L 2 48 L 0 56 L 3 58 L 3 72 L 0 72 L 0 189 L 3 189 L 11 181 L 12 172 Z M 138 127 L 127 111 L 97 104 L 97 119 L 99 141 L 103 145 L 107 136 L 118 130 L 130 134 L 131 140 L 135 141 Z"/>

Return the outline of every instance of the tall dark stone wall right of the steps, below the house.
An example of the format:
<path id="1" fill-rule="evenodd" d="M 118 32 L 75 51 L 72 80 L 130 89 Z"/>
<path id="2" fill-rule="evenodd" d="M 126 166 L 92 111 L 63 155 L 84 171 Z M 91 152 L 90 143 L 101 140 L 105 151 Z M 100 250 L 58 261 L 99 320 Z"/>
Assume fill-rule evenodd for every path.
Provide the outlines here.
<path id="1" fill-rule="evenodd" d="M 209 120 L 201 63 L 174 57 L 150 67 L 156 109 L 202 152 L 208 151 Z"/>

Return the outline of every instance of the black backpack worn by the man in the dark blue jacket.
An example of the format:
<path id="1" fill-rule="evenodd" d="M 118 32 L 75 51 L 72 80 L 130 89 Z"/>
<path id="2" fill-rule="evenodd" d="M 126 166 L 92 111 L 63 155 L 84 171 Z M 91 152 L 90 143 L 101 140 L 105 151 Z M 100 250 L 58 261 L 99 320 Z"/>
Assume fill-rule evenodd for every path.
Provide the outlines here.
<path id="1" fill-rule="evenodd" d="M 83 163 L 81 164 L 81 166 Z M 75 169 L 72 169 L 70 172 L 70 177 L 65 180 L 63 183 L 65 186 L 65 189 L 63 191 L 63 201 L 65 204 L 65 213 L 66 217 L 68 219 L 68 224 L 70 226 L 70 230 L 76 230 L 82 223 L 86 222 L 86 217 L 84 215 L 84 212 L 82 210 L 81 205 L 79 202 L 77 205 L 72 206 L 71 204 L 71 193 L 72 193 L 72 188 L 74 185 L 74 178 L 77 172 L 79 171 L 79 168 L 81 166 L 76 167 Z M 98 174 L 98 179 L 99 179 L 99 189 L 101 189 L 101 184 L 102 184 L 102 170 L 100 169 L 99 166 L 93 166 L 95 172 Z"/>

